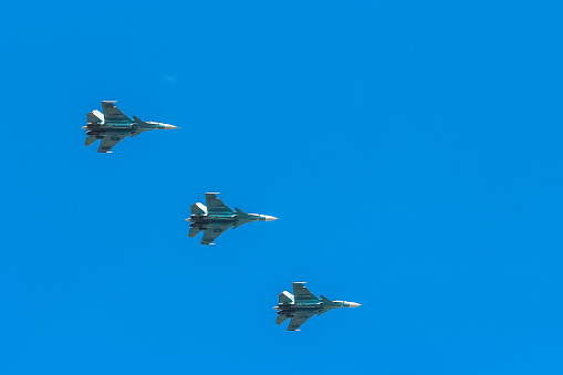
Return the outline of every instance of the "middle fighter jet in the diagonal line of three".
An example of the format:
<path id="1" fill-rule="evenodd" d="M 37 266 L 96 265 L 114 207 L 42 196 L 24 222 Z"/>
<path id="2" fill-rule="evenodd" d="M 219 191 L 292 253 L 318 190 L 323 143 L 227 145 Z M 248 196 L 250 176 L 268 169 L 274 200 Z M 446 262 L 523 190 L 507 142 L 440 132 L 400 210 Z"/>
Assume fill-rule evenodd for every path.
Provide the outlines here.
<path id="1" fill-rule="evenodd" d="M 195 237 L 201 230 L 205 230 L 201 238 L 201 244 L 215 244 L 215 239 L 227 229 L 236 229 L 243 223 L 251 221 L 271 221 L 278 220 L 273 216 L 246 213 L 234 207 L 231 210 L 221 199 L 217 198 L 219 192 L 206 192 L 207 207 L 200 202 L 191 205 L 191 216 L 186 219 L 190 222 L 189 237 Z"/>

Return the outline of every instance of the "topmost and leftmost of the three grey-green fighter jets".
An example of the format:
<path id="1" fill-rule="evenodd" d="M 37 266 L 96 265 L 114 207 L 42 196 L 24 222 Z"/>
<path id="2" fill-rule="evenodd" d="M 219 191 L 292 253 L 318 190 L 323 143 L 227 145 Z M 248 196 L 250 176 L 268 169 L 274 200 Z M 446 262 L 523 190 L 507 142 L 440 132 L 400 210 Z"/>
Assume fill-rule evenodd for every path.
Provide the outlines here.
<path id="1" fill-rule="evenodd" d="M 86 146 L 102 139 L 97 148 L 98 153 L 112 153 L 112 147 L 126 136 L 134 137 L 147 131 L 177 128 L 174 125 L 150 121 L 144 122 L 136 116 L 131 119 L 114 103 L 116 102 L 103 101 L 102 111 L 104 111 L 104 114 L 101 114 L 97 110 L 92 111 L 87 114 L 87 125 L 82 127 L 86 131 Z"/>

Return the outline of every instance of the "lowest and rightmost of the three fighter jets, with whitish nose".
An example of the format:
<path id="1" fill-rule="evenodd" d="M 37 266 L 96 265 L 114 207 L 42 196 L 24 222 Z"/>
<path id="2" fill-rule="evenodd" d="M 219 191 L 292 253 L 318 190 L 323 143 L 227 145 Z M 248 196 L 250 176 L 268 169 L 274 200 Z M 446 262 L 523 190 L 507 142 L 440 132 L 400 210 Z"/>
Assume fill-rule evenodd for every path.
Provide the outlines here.
<path id="1" fill-rule="evenodd" d="M 293 294 L 286 291 L 282 292 L 279 295 L 280 303 L 273 308 L 278 310 L 275 324 L 281 324 L 288 317 L 291 317 L 288 331 L 301 331 L 301 324 L 314 314 L 321 315 L 333 309 L 357 308 L 361 305 L 355 302 L 331 301 L 324 295 L 317 299 L 303 284 L 304 282 L 294 282 Z"/>

